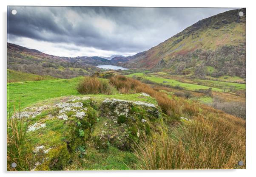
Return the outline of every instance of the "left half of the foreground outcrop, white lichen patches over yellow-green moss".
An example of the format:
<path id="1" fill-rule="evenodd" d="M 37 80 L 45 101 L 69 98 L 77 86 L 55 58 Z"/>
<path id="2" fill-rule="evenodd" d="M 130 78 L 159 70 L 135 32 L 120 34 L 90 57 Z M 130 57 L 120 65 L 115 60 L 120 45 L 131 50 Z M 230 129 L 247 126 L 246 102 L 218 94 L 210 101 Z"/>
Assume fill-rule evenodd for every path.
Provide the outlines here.
<path id="1" fill-rule="evenodd" d="M 33 152 L 31 170 L 63 169 L 85 143 L 84 131 L 91 130 L 88 114 L 97 117 L 81 102 L 87 99 L 71 97 L 54 105 L 28 107 L 12 116 L 28 120 L 28 149 Z"/>

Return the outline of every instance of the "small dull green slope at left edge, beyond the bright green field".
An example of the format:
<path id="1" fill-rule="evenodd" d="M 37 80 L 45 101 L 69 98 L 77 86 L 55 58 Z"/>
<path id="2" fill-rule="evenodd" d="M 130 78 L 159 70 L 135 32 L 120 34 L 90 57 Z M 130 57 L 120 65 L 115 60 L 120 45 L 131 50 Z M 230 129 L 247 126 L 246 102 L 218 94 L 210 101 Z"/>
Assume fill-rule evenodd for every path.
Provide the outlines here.
<path id="1" fill-rule="evenodd" d="M 23 73 L 19 71 L 7 69 L 7 82 L 23 82 L 54 79 L 52 76 L 39 76 L 31 73 Z"/>

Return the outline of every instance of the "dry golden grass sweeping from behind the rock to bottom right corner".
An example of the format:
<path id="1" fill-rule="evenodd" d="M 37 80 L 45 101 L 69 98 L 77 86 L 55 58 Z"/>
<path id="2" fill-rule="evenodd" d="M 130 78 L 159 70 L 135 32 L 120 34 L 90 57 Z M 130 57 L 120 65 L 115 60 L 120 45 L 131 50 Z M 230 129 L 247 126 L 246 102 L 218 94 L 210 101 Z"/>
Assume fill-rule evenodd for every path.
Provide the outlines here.
<path id="1" fill-rule="evenodd" d="M 114 76 L 110 82 L 122 92 L 144 92 L 156 99 L 170 117 L 186 116 L 190 121 L 173 127 L 140 143 L 134 149 L 139 169 L 239 169 L 245 163 L 245 120 L 220 110 L 168 97 L 146 84 L 125 76 Z M 125 89 L 124 89 L 125 88 Z M 201 111 L 199 110 L 201 108 Z"/>

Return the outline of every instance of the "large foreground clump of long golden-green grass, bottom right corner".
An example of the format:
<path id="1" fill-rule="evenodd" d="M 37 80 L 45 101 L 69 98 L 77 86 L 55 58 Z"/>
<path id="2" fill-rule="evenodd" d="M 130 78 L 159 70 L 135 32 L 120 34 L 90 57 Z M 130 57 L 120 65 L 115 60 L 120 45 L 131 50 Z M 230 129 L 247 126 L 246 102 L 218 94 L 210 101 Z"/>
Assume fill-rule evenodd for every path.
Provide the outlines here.
<path id="1" fill-rule="evenodd" d="M 245 162 L 245 122 L 227 114 L 216 118 L 208 113 L 208 119 L 199 115 L 192 122 L 176 127 L 171 135 L 162 131 L 137 145 L 138 168 L 245 168 L 237 164 L 239 160 Z M 229 122 L 225 120 L 228 117 Z"/>

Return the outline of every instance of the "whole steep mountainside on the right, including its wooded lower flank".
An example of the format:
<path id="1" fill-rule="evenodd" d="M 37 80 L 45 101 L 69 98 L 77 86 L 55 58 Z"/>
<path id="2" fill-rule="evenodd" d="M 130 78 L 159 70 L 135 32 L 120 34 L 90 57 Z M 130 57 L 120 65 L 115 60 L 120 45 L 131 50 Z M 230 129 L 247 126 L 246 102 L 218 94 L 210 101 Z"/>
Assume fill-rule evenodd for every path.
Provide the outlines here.
<path id="1" fill-rule="evenodd" d="M 238 12 L 244 16 L 239 17 Z M 174 74 L 245 77 L 245 8 L 200 20 L 148 51 L 130 56 L 125 67 Z"/>

